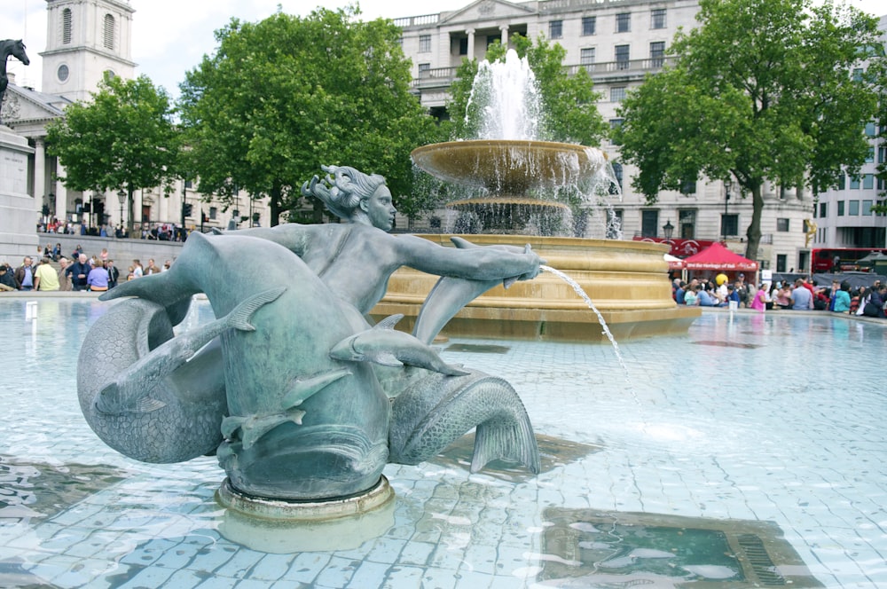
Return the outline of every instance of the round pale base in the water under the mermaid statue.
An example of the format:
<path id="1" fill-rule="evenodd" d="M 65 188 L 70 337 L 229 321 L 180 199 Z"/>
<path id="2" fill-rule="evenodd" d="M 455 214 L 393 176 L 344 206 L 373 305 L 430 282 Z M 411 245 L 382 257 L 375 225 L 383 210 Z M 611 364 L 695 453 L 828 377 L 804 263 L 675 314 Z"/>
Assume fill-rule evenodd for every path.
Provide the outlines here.
<path id="1" fill-rule="evenodd" d="M 216 491 L 216 501 L 226 508 L 219 533 L 273 554 L 349 550 L 394 525 L 394 498 L 384 476 L 362 495 L 310 502 L 250 497 L 225 479 Z"/>

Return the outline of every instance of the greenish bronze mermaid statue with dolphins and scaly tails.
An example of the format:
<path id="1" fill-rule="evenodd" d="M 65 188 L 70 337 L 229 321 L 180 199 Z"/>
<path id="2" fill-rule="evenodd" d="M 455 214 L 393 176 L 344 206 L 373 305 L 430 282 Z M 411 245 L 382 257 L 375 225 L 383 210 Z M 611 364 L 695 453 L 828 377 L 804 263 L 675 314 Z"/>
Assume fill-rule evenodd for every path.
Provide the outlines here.
<path id="1" fill-rule="evenodd" d="M 344 223 L 194 232 L 169 271 L 100 297 L 127 298 L 82 346 L 77 386 L 90 427 L 134 459 L 216 454 L 234 490 L 284 501 L 359 495 L 387 463 L 431 459 L 472 428 L 472 472 L 506 459 L 538 473 L 514 389 L 430 346 L 478 294 L 534 278 L 538 255 L 391 235 L 384 177 L 322 169 L 302 192 Z M 412 334 L 394 329 L 400 316 L 367 318 L 401 266 L 441 277 Z M 177 334 L 199 293 L 216 320 Z"/>

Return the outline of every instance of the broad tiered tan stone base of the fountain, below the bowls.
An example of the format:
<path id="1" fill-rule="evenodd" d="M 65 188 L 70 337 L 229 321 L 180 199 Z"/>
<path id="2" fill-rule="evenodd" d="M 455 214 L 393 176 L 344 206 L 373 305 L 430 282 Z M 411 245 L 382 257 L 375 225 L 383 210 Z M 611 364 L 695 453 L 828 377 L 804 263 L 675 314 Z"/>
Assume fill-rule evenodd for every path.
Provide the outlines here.
<path id="1" fill-rule="evenodd" d="M 450 235 L 422 235 L 452 247 Z M 671 298 L 667 246 L 622 240 L 463 235 L 479 246 L 530 243 L 546 265 L 563 271 L 585 290 L 616 341 L 660 334 L 683 334 L 698 318 L 698 307 Z M 403 313 L 400 329 L 412 329 L 422 302 L 437 277 L 401 268 L 389 280 L 374 318 Z M 479 296 L 443 327 L 442 335 L 506 337 L 546 341 L 607 342 L 597 315 L 563 280 L 543 272 L 532 280 L 501 285 Z"/>

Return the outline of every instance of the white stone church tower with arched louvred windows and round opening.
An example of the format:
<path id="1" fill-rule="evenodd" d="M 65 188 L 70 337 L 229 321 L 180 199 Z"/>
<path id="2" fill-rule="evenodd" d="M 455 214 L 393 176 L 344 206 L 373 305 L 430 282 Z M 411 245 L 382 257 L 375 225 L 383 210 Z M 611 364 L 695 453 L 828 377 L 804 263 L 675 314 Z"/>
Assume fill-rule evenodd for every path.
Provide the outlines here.
<path id="1" fill-rule="evenodd" d="M 46 0 L 43 92 L 88 100 L 105 75 L 134 77 L 129 0 Z"/>

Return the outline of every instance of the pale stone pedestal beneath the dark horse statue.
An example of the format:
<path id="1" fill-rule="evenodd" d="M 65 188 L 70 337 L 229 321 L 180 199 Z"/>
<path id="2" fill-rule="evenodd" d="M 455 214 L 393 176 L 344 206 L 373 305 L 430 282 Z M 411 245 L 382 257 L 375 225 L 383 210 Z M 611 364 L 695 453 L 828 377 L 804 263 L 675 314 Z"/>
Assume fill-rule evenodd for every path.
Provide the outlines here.
<path id="1" fill-rule="evenodd" d="M 0 125 L 0 262 L 20 266 L 37 251 L 37 210 L 27 193 L 27 139 Z"/>

